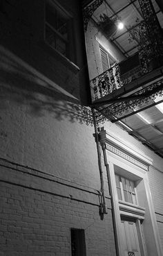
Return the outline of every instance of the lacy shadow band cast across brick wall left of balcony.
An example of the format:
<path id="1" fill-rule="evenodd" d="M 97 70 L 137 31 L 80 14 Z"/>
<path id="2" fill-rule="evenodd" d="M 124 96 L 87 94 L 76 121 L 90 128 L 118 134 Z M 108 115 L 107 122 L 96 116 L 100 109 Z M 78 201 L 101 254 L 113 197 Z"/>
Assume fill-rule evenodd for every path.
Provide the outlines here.
<path id="1" fill-rule="evenodd" d="M 78 99 L 12 53 L 1 48 L 0 52 L 1 109 L 14 101 L 27 105 L 28 112 L 35 117 L 44 116 L 46 111 L 58 120 L 67 118 L 71 122 L 93 125 L 91 110 L 80 105 Z"/>

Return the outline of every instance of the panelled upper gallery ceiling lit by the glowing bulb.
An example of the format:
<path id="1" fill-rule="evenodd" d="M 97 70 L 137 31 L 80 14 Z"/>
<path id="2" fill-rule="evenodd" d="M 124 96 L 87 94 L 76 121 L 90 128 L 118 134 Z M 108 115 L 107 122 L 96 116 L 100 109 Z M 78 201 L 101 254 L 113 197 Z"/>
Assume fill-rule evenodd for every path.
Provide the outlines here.
<path id="1" fill-rule="evenodd" d="M 153 0 L 152 3 L 160 25 L 163 28 L 163 13 L 159 6 L 157 6 L 155 0 Z M 126 57 L 136 53 L 138 43 L 135 42 L 135 40 L 131 42 L 128 39 L 131 37 L 131 28 L 138 26 L 144 19 L 139 1 L 104 0 L 102 5 L 93 12 L 92 19 L 99 24 L 101 20 L 100 15 L 102 14 L 111 19 L 117 19 L 117 22 L 122 21 L 124 24 L 122 30 L 117 29 L 116 33 L 112 35 L 110 38 L 111 42 L 113 42 Z"/>

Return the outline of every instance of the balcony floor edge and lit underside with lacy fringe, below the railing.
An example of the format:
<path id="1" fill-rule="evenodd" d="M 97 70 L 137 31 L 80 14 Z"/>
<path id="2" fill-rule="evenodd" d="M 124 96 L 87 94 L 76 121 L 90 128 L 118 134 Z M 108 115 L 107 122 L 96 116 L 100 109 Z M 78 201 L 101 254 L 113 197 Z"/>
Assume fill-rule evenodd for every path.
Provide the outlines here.
<path id="1" fill-rule="evenodd" d="M 92 103 L 97 122 L 104 119 L 122 126 L 129 134 L 163 157 L 163 66 L 113 90 Z"/>

